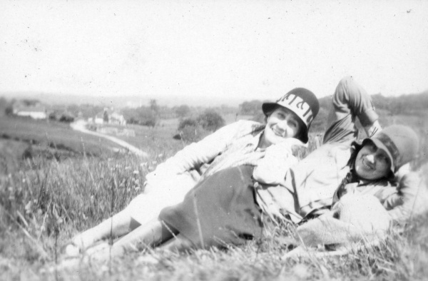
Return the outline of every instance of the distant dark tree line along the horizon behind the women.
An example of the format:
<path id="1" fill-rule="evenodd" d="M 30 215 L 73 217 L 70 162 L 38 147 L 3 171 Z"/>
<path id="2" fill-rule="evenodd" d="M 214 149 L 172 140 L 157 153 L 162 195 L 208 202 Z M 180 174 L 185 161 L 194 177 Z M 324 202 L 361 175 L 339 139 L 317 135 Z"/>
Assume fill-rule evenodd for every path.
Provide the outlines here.
<path id="1" fill-rule="evenodd" d="M 402 95 L 397 97 L 382 96 L 378 93 L 372 95 L 374 106 L 377 109 L 387 111 L 391 115 L 419 115 L 428 109 L 428 91 L 417 94 Z M 331 103 L 331 96 L 326 96 L 319 99 L 320 113 L 312 123 L 312 130 L 322 131 L 327 113 Z M 0 98 L 0 111 L 2 114 L 11 115 L 15 99 L 7 101 L 5 98 Z M 187 105 L 180 106 L 160 106 L 156 99 L 152 99 L 148 105 L 139 106 L 137 108 L 122 108 L 120 112 L 125 117 L 127 123 L 137 124 L 141 126 L 157 126 L 161 119 L 179 118 L 178 136 L 176 138 L 185 139 L 186 141 L 197 141 L 198 138 L 206 134 L 218 130 L 225 125 L 223 116 L 233 113 L 238 115 L 249 116 L 248 119 L 258 122 L 263 122 L 265 116 L 261 110 L 262 104 L 265 101 L 253 100 L 240 103 L 238 108 L 233 106 L 218 106 L 218 107 L 190 107 Z M 39 103 L 36 99 L 24 99 L 21 101 L 26 105 L 34 105 Z M 51 108 L 49 118 L 53 118 L 55 114 L 60 116 L 73 116 L 81 118 L 90 118 L 103 111 L 101 106 L 89 104 L 83 105 L 68 105 L 56 106 Z M 61 115 L 62 114 L 62 115 Z M 60 118 L 56 118 L 60 120 Z"/>

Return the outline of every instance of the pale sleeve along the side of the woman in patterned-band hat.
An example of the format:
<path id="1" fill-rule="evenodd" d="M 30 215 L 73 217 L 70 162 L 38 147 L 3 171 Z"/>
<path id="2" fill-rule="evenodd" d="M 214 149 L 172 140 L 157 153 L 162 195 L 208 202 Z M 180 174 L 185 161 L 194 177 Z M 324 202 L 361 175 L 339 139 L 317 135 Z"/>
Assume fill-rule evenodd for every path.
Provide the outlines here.
<path id="1" fill-rule="evenodd" d="M 148 173 L 146 185 L 156 184 L 158 180 L 168 178 L 170 175 L 180 175 L 199 168 L 204 163 L 210 163 L 230 145 L 243 125 L 243 121 L 232 123 L 220 128 L 198 143 L 191 143 L 186 146 L 173 157 L 159 164 L 153 172 Z"/>

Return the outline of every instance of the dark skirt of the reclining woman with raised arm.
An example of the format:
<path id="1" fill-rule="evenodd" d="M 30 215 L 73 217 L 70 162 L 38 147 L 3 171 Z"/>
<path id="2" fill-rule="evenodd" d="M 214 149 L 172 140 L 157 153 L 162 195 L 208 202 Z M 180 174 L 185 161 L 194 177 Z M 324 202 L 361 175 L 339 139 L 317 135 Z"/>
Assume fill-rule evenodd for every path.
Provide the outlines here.
<path id="1" fill-rule="evenodd" d="M 255 202 L 253 166 L 221 170 L 195 185 L 182 203 L 159 215 L 195 247 L 227 247 L 263 235 L 260 207 Z"/>

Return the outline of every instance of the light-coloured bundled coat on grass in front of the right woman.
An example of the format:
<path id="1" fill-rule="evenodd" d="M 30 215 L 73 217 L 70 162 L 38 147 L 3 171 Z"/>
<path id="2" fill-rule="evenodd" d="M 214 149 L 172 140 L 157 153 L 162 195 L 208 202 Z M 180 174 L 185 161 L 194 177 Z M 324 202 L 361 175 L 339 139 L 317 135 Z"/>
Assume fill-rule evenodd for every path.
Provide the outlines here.
<path id="1" fill-rule="evenodd" d="M 301 245 L 284 258 L 344 255 L 355 245 L 377 245 L 387 234 L 391 221 L 374 196 L 346 194 L 330 212 L 297 228 Z M 320 252 L 318 245 L 334 245 L 337 250 Z"/>

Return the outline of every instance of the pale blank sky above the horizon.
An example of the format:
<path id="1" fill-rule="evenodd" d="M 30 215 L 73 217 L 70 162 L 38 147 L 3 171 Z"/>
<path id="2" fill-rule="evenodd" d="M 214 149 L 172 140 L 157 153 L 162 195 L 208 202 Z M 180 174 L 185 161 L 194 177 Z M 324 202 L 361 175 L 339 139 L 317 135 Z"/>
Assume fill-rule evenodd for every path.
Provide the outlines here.
<path id="1" fill-rule="evenodd" d="M 275 100 L 428 89 L 428 1 L 0 0 L 0 94 Z M 224 102 L 222 102 L 224 103 Z"/>

